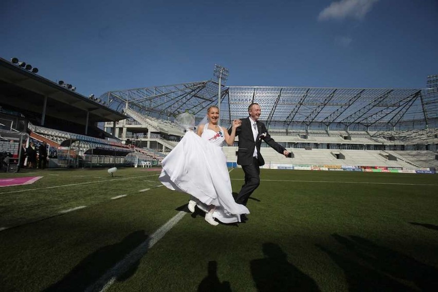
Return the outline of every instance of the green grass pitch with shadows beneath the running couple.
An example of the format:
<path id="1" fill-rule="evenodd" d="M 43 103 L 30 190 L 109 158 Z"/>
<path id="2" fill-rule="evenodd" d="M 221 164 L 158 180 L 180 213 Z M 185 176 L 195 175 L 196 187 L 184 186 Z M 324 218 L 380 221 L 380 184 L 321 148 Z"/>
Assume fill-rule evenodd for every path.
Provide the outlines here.
<path id="1" fill-rule="evenodd" d="M 438 176 L 262 170 L 211 226 L 159 171 L 45 170 L 0 188 L 2 291 L 435 291 Z M 243 171 L 230 172 L 233 191 Z M 118 196 L 122 196 L 119 198 Z M 66 210 L 82 207 L 69 212 Z"/>

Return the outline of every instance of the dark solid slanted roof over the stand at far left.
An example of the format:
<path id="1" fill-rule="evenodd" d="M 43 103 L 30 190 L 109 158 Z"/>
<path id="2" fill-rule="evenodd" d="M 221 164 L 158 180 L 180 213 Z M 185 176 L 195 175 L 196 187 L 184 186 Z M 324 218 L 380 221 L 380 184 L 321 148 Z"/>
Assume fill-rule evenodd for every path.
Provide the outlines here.
<path id="1" fill-rule="evenodd" d="M 103 104 L 0 58 L 0 105 L 77 124 L 118 121 L 126 117 Z M 88 121 L 87 121 L 88 115 Z"/>

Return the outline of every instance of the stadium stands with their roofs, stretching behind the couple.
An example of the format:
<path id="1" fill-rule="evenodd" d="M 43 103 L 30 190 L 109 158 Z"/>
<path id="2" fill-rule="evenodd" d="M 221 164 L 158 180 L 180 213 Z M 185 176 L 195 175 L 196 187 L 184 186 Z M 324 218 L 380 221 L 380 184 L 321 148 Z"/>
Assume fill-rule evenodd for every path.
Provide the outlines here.
<path id="1" fill-rule="evenodd" d="M 428 82 L 429 88 L 221 84 L 218 90 L 220 83 L 212 79 L 87 98 L 0 61 L 2 121 L 62 152 L 64 161 L 53 158 L 53 166 L 159 165 L 184 136 L 174 117 L 189 112 L 198 123 L 218 97 L 226 127 L 246 117 L 251 102 L 261 105 L 271 136 L 293 153 L 284 158 L 263 143 L 266 168 L 429 171 L 438 166 L 436 83 Z M 230 166 L 236 145 L 224 147 Z"/>

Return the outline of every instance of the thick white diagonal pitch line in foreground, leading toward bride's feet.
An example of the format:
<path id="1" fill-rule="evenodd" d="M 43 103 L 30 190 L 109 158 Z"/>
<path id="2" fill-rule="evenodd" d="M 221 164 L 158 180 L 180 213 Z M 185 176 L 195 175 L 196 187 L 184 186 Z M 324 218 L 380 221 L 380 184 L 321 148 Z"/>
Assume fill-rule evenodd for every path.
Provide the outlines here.
<path id="1" fill-rule="evenodd" d="M 88 286 L 85 291 L 105 291 L 111 286 L 118 276 L 122 275 L 129 269 L 134 263 L 138 262 L 147 252 L 152 248 L 175 224 L 177 224 L 182 217 L 186 215 L 186 212 L 180 211 L 173 216 L 165 225 L 157 229 L 147 240 L 141 243 L 137 248 L 131 251 L 126 257 L 118 262 L 111 269 L 107 270 L 102 277 L 100 277 L 95 283 Z"/>

